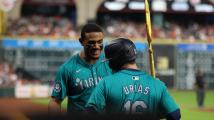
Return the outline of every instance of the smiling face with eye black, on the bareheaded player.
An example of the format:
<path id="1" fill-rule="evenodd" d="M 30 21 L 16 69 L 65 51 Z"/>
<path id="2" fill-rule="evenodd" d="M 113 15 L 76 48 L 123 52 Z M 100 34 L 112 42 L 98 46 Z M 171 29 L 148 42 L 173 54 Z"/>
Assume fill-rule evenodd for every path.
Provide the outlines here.
<path id="1" fill-rule="evenodd" d="M 84 39 L 85 54 L 89 59 L 98 59 L 103 49 L 103 33 L 102 32 L 90 32 L 86 33 Z"/>

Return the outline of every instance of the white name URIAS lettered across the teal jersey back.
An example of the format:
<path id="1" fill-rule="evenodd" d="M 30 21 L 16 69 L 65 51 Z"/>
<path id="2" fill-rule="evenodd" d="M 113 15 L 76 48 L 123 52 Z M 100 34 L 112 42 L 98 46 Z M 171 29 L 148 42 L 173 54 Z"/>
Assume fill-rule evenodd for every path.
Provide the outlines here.
<path id="1" fill-rule="evenodd" d="M 149 93 L 149 87 L 143 88 L 143 86 L 140 85 L 128 85 L 123 87 L 124 93 L 131 94 L 131 93 L 140 93 L 140 94 L 145 94 L 147 95 Z"/>

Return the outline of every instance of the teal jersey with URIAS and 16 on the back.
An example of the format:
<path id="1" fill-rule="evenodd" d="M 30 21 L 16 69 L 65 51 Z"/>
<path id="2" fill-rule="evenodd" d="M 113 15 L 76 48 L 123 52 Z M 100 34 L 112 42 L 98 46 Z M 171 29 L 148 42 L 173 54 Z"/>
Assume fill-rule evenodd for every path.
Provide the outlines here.
<path id="1" fill-rule="evenodd" d="M 163 82 L 139 70 L 121 70 L 105 77 L 86 107 L 101 113 L 168 114 L 179 107 Z"/>

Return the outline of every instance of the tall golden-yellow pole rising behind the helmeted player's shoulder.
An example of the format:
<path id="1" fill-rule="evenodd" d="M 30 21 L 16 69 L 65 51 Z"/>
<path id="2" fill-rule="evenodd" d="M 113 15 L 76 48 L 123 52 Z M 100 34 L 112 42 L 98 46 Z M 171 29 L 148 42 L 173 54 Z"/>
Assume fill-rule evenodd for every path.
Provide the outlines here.
<path id="1" fill-rule="evenodd" d="M 153 49 L 152 49 L 152 29 L 151 29 L 151 19 L 150 19 L 148 0 L 145 0 L 145 13 L 146 13 L 147 41 L 148 41 L 148 47 L 149 47 L 150 73 L 155 78 L 155 64 L 154 64 L 154 56 L 153 56 Z"/>

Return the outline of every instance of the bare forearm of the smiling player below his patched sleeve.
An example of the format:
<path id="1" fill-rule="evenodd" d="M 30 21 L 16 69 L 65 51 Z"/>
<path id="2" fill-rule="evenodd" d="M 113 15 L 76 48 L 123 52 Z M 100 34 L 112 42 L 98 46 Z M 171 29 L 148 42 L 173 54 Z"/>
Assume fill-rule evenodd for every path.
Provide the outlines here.
<path id="1" fill-rule="evenodd" d="M 48 113 L 49 114 L 61 113 L 61 102 L 62 101 L 52 97 L 48 104 Z"/>

